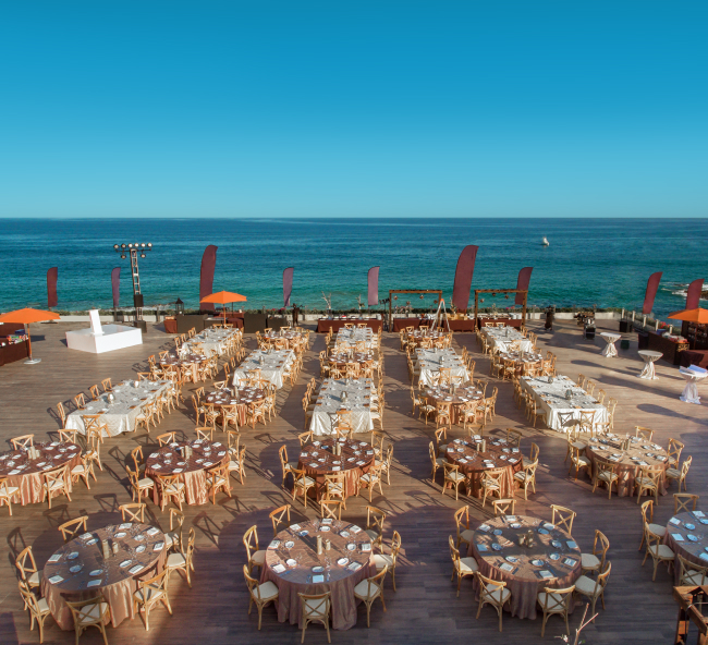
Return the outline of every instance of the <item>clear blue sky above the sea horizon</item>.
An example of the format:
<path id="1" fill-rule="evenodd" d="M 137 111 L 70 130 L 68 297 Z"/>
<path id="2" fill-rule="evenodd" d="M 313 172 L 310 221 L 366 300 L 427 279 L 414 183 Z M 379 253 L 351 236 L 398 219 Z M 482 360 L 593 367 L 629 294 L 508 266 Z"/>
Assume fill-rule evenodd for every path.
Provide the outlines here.
<path id="1" fill-rule="evenodd" d="M 708 3 L 4 2 L 0 217 L 705 217 Z"/>

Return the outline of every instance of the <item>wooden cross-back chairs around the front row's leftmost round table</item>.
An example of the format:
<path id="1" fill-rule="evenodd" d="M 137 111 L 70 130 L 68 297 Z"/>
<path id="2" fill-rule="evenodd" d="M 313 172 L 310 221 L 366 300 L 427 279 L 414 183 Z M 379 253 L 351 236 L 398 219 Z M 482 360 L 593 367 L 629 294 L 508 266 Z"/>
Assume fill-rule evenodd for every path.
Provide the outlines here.
<path id="1" fill-rule="evenodd" d="M 126 503 L 119 507 L 123 522 L 145 522 L 144 503 Z M 145 631 L 149 631 L 149 614 L 152 609 L 162 605 L 170 614 L 172 607 L 169 598 L 169 581 L 172 574 L 182 574 L 192 587 L 192 573 L 194 572 L 194 543 L 196 539 L 194 528 L 190 528 L 186 539 L 183 537 L 182 526 L 184 515 L 171 509 L 170 512 L 170 531 L 164 533 L 167 549 L 167 559 L 161 572 L 154 575 L 144 574 L 137 579 L 137 589 L 133 593 L 133 610 L 143 614 Z M 71 541 L 78 535 L 88 531 L 88 516 L 83 515 L 69 522 L 64 522 L 58 527 L 62 539 L 65 543 Z M 41 595 L 42 570 L 37 568 L 32 547 L 25 547 L 15 558 L 15 567 L 19 572 L 20 595 L 24 603 L 24 608 L 29 612 L 29 629 L 35 629 L 35 622 L 39 630 L 39 642 L 44 642 L 45 621 L 51 614 L 47 599 Z M 149 573 L 149 572 L 148 572 Z M 88 628 L 98 629 L 103 642 L 108 644 L 106 625 L 110 622 L 110 605 L 102 594 L 96 594 L 93 597 L 78 601 L 65 600 L 71 616 L 74 621 L 76 632 L 76 643 L 82 633 Z"/>

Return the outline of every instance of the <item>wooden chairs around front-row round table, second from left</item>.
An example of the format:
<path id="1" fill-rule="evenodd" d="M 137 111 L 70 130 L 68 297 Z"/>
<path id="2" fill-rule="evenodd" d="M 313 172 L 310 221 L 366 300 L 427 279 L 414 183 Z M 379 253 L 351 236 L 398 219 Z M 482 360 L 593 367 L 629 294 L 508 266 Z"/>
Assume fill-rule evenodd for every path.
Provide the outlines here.
<path id="1" fill-rule="evenodd" d="M 272 522 L 273 539 L 278 533 L 290 525 L 291 506 L 284 504 L 274 509 L 269 514 Z M 330 518 L 332 520 L 341 521 L 342 519 L 342 503 L 341 501 L 320 501 L 319 504 L 320 516 L 322 519 Z M 393 532 L 389 545 L 389 552 L 386 552 L 383 541 L 383 523 L 386 521 L 386 512 L 373 506 L 366 507 L 366 528 L 365 533 L 371 539 L 371 560 L 376 568 L 376 575 L 367 577 L 359 582 L 353 591 L 354 598 L 364 603 L 366 607 L 366 626 L 371 626 L 371 607 L 376 600 L 381 600 L 383 611 L 386 611 L 386 600 L 383 598 L 383 584 L 387 573 L 391 574 L 391 584 L 395 592 L 395 567 L 401 551 L 402 539 L 398 531 Z M 243 536 L 243 545 L 246 549 L 246 563 L 243 565 L 243 575 L 248 588 L 248 616 L 256 606 L 258 610 L 258 630 L 260 630 L 263 622 L 263 610 L 268 604 L 278 600 L 279 588 L 271 582 L 259 583 L 260 571 L 266 565 L 266 550 L 260 548 L 258 541 L 258 527 L 253 525 Z M 378 549 L 379 552 L 376 552 Z M 256 571 L 257 570 L 257 571 Z M 305 641 L 305 632 L 312 622 L 320 623 L 327 633 L 327 641 L 331 643 L 330 638 L 330 619 L 331 619 L 331 592 L 324 594 L 304 594 L 298 593 L 301 605 L 301 620 L 302 624 L 302 638 L 301 643 Z"/>

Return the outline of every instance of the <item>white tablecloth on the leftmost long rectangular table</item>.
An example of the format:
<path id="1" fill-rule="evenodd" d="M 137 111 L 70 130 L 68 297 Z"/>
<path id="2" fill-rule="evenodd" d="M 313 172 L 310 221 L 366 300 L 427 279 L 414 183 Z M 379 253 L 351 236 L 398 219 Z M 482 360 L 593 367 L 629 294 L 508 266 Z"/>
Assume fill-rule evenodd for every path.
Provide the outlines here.
<path id="1" fill-rule="evenodd" d="M 130 384 L 134 381 L 129 381 Z M 101 394 L 97 401 L 89 401 L 85 410 L 76 410 L 66 417 L 66 427 L 78 430 L 82 435 L 84 428 L 83 415 L 100 414 L 100 423 L 106 424 L 109 437 L 121 433 L 132 433 L 135 429 L 135 417 L 143 410 L 145 403 L 154 401 L 158 394 L 169 390 L 172 384 L 168 380 L 138 381 L 138 387 L 120 384 L 113 387 L 113 403 L 108 402 L 108 394 Z M 134 407 L 133 407 L 134 406 Z M 133 407 L 133 410 L 131 410 Z"/>

